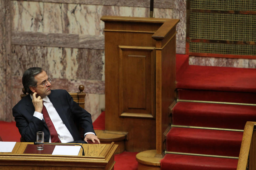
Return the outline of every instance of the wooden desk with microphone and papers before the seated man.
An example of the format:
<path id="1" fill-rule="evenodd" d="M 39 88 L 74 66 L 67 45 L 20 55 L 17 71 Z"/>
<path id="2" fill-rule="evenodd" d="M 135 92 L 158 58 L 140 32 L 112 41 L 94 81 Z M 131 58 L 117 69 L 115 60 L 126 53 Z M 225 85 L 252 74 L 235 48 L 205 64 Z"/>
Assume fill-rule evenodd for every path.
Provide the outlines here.
<path id="1" fill-rule="evenodd" d="M 83 144 L 78 156 L 51 154 L 24 154 L 29 142 L 17 142 L 12 152 L 0 152 L 0 169 L 23 170 L 109 170 L 114 169 L 114 153 L 118 145 L 111 144 Z M 45 147 L 51 145 L 45 145 Z"/>

